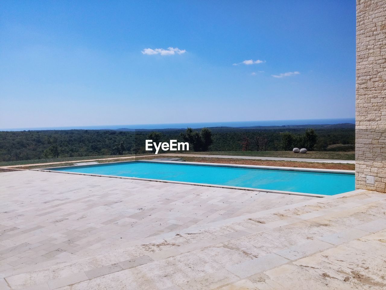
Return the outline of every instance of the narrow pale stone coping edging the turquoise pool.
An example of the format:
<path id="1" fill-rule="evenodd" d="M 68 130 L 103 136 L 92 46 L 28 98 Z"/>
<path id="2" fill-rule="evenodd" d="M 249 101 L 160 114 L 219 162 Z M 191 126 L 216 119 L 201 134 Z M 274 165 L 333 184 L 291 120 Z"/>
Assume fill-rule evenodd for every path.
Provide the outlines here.
<path id="1" fill-rule="evenodd" d="M 128 162 L 148 162 L 148 163 L 171 163 L 171 164 L 181 164 L 181 161 L 164 161 L 164 160 L 129 160 L 129 161 L 118 161 L 118 162 L 107 162 L 100 163 L 103 164 L 116 164 L 116 163 L 128 163 Z M 298 167 L 276 167 L 276 166 L 264 166 L 264 165 L 241 165 L 241 164 L 222 164 L 222 163 L 206 163 L 206 162 L 183 162 L 183 164 L 192 164 L 192 165 L 206 165 L 206 166 L 223 166 L 223 167 L 242 167 L 242 168 L 256 168 L 256 169 L 276 169 L 276 170 L 291 170 L 291 171 L 311 171 L 311 172 L 325 172 L 325 173 L 343 173 L 343 174 L 355 174 L 353 170 L 337 170 L 337 169 L 315 169 L 315 168 L 298 168 Z M 268 193 L 279 193 L 279 194 L 291 194 L 291 195 L 299 195 L 299 196 L 310 196 L 323 198 L 327 196 L 336 196 L 338 193 L 334 195 L 328 194 L 313 194 L 313 193 L 301 193 L 295 191 L 279 191 L 279 190 L 270 190 L 270 189 L 260 189 L 260 188 L 247 188 L 240 186 L 226 186 L 219 184 L 207 184 L 207 183 L 192 183 L 186 181 L 171 181 L 171 180 L 163 180 L 163 179 L 149 179 L 149 178 L 140 178 L 140 177 L 127 177 L 127 176 L 114 176 L 114 175 L 103 175 L 103 174 L 91 174 L 91 173 L 80 173 L 80 172 L 66 172 L 66 171 L 58 171 L 58 170 L 50 170 L 53 168 L 65 168 L 65 167 L 84 167 L 84 166 L 92 166 L 92 165 L 68 165 L 68 166 L 60 166 L 60 167 L 48 167 L 41 169 L 29 169 L 32 171 L 45 171 L 45 172 L 57 172 L 57 173 L 65 173 L 65 174 L 76 174 L 76 175 L 86 175 L 86 176 L 99 176 L 99 177 L 110 177 L 110 178 L 120 178 L 120 179 L 132 179 L 132 180 L 142 180 L 142 181 L 155 181 L 155 182 L 164 182 L 164 183 L 174 183 L 174 184 L 187 184 L 187 185 L 195 185 L 195 186 L 207 186 L 207 187 L 215 187 L 215 188 L 228 188 L 228 189 L 238 189 L 238 190 L 247 190 L 247 191 L 258 191 L 258 192 L 268 192 Z M 349 193 L 348 191 L 346 193 Z"/>

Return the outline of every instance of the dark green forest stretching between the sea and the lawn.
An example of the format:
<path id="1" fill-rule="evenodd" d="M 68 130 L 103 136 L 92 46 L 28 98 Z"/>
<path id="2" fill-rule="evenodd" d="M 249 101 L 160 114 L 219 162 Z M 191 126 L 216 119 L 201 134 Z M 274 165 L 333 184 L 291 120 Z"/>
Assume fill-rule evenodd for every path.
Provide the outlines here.
<path id="1" fill-rule="evenodd" d="M 0 131 L 0 161 L 149 153 L 146 139 L 187 141 L 191 151 L 354 150 L 354 145 L 347 145 L 355 143 L 355 126 Z"/>

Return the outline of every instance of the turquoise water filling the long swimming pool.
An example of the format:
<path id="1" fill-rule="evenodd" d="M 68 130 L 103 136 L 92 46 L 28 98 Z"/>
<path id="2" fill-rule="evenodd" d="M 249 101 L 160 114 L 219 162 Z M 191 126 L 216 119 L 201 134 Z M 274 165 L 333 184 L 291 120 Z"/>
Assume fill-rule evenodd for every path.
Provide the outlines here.
<path id="1" fill-rule="evenodd" d="M 346 173 L 141 161 L 56 167 L 50 170 L 325 195 L 354 190 L 354 174 Z"/>

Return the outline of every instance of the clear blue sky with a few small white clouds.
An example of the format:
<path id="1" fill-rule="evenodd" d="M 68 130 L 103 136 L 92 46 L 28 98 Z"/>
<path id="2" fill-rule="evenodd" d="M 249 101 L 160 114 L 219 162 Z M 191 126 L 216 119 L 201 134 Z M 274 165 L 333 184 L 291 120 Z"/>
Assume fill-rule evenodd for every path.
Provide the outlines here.
<path id="1" fill-rule="evenodd" d="M 2 1 L 0 128 L 354 117 L 355 17 L 344 0 Z"/>

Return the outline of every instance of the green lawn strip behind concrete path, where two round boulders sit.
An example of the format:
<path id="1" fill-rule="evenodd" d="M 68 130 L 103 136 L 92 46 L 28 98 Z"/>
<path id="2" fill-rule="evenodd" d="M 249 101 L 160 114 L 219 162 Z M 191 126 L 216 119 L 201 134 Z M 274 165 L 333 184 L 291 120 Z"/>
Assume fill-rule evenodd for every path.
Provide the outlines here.
<path id="1" fill-rule="evenodd" d="M 203 154 L 203 155 L 232 155 L 232 156 L 355 160 L 355 151 L 349 151 L 349 152 L 309 151 L 306 154 L 293 153 L 292 151 L 208 151 L 208 152 L 190 151 L 190 152 L 184 152 L 184 153 Z"/>

